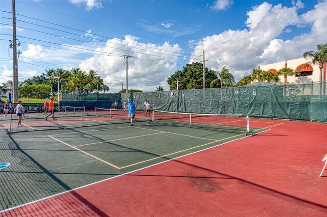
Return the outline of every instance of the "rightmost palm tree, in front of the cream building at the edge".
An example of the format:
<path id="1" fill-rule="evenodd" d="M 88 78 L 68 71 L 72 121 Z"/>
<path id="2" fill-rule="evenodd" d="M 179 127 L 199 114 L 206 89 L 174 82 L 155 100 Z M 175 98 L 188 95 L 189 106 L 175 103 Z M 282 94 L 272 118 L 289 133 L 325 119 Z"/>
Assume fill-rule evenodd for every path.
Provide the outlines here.
<path id="1" fill-rule="evenodd" d="M 317 49 L 318 49 L 317 52 L 310 50 L 303 53 L 303 58 L 310 61 L 307 64 L 318 65 L 320 70 L 319 81 L 321 82 L 323 64 L 327 62 L 327 44 L 318 44 Z"/>

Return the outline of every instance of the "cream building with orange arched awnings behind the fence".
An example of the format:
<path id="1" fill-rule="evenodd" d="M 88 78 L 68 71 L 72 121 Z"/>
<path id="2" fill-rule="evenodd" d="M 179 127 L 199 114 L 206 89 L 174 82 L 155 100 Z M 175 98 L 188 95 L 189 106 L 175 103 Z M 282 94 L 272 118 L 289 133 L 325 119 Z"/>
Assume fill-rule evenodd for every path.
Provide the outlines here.
<path id="1" fill-rule="evenodd" d="M 297 72 L 300 69 L 300 72 L 295 73 L 293 76 L 287 76 L 287 84 L 308 84 L 312 82 L 319 82 L 320 69 L 318 65 L 306 66 L 305 63 L 308 61 L 304 58 L 298 58 L 294 60 L 287 60 L 267 65 L 258 66 L 258 69 L 265 71 L 270 71 L 277 73 L 279 69 L 284 67 L 289 67 Z M 279 75 L 281 78 L 279 84 L 284 84 L 284 76 Z M 326 63 L 323 65 L 322 69 L 322 80 L 326 80 Z"/>

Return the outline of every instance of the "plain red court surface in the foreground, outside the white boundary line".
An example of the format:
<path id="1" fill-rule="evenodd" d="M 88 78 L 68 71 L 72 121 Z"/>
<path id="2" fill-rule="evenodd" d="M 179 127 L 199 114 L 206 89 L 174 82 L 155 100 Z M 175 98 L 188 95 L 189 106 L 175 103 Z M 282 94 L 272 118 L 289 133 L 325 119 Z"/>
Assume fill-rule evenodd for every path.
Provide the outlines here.
<path id="1" fill-rule="evenodd" d="M 91 184 L 2 216 L 326 216 L 327 125 L 251 119 L 241 140 Z"/>

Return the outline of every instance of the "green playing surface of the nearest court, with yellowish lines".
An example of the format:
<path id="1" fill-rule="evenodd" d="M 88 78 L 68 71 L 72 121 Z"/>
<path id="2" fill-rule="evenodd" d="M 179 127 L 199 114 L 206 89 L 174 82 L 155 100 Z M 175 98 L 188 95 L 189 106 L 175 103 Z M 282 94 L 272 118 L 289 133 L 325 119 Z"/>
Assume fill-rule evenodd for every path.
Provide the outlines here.
<path id="1" fill-rule="evenodd" d="M 0 161 L 11 166 L 1 173 L 0 210 L 245 137 L 155 123 L 11 135 L 3 130 Z"/>

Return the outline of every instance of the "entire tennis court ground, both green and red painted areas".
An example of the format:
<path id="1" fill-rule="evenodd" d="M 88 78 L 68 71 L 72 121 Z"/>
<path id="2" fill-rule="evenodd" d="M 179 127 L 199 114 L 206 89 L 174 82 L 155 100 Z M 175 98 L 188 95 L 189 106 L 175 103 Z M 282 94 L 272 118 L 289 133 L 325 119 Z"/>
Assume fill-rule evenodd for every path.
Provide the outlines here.
<path id="1" fill-rule="evenodd" d="M 253 135 L 246 136 L 246 122 L 245 129 L 231 125 L 244 122 L 242 117 L 223 117 L 218 124 L 215 117 L 194 116 L 190 127 L 188 114 L 169 121 L 162 114 L 163 124 L 139 115 L 130 127 L 126 118 L 106 116 L 78 114 L 42 124 L 27 118 L 25 128 L 53 130 L 7 134 L 2 129 L 1 161 L 11 166 L 0 171 L 0 214 L 327 212 L 327 171 L 319 177 L 325 124 L 250 119 Z"/>

